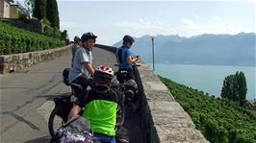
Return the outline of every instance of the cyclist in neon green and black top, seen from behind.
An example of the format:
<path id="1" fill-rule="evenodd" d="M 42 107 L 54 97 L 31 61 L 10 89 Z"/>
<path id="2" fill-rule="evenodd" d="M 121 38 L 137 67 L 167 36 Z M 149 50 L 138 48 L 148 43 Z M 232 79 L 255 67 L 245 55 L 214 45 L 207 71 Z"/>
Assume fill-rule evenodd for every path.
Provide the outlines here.
<path id="1" fill-rule="evenodd" d="M 121 93 L 111 88 L 114 71 L 99 65 L 94 72 L 94 85 L 71 108 L 69 118 L 84 107 L 83 117 L 90 121 L 93 135 L 101 142 L 115 143 L 116 109 Z"/>

